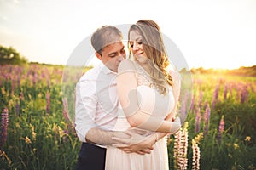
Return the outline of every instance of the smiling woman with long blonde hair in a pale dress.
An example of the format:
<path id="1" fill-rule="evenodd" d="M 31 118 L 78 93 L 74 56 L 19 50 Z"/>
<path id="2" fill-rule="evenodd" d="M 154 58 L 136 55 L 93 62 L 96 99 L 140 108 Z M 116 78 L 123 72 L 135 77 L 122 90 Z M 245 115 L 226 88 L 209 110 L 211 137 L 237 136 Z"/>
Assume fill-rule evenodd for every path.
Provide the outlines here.
<path id="1" fill-rule="evenodd" d="M 133 128 L 145 137 L 153 132 L 176 133 L 181 126 L 175 119 L 180 82 L 168 70 L 160 27 L 153 20 L 137 21 L 129 30 L 128 47 L 134 61 L 119 65 L 117 86 L 124 112 L 115 130 Z M 168 169 L 166 138 L 155 136 L 154 150 L 148 155 L 108 147 L 106 169 Z"/>

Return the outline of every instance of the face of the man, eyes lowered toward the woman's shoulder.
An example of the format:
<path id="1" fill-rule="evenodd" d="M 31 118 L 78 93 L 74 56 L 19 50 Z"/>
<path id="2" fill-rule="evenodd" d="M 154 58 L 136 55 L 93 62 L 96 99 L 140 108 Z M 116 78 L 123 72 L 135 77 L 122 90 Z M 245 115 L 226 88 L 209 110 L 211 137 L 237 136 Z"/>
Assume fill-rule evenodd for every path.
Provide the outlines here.
<path id="1" fill-rule="evenodd" d="M 96 53 L 96 56 L 109 70 L 117 72 L 120 62 L 126 57 L 125 46 L 123 42 L 114 42 L 102 48 L 102 53 Z"/>

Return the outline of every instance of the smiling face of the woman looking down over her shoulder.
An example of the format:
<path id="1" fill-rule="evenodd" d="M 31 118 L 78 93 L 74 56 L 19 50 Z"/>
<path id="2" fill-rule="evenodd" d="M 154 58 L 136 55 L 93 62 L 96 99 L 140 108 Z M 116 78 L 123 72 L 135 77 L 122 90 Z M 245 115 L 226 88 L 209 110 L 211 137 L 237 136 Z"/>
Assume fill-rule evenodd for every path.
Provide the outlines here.
<path id="1" fill-rule="evenodd" d="M 130 31 L 129 45 L 134 58 L 144 63 L 148 60 L 146 53 L 143 50 L 143 37 L 137 31 Z"/>

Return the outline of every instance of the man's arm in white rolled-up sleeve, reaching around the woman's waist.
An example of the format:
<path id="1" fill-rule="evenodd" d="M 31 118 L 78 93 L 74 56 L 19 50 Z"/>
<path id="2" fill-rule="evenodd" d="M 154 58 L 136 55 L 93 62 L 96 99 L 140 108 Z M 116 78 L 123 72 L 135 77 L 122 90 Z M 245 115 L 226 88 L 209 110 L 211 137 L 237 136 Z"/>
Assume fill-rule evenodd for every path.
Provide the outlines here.
<path id="1" fill-rule="evenodd" d="M 106 131 L 96 126 L 96 94 L 95 83 L 87 79 L 81 79 L 76 86 L 76 105 L 75 105 L 75 129 L 81 142 L 89 142 L 101 145 L 138 144 L 144 138 L 140 136 L 137 140 L 127 140 L 126 142 L 119 142 L 113 140 L 113 136 L 121 139 L 135 139 L 135 134 L 126 134 L 124 132 Z"/>

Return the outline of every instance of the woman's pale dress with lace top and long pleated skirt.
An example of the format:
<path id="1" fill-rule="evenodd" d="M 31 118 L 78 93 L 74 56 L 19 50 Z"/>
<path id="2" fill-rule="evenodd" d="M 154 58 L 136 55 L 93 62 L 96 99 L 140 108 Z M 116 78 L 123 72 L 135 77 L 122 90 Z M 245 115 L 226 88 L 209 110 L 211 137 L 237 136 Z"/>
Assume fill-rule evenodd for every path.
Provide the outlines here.
<path id="1" fill-rule="evenodd" d="M 160 95 L 155 88 L 150 88 L 149 75 L 135 62 L 137 69 L 137 94 L 139 106 L 142 111 L 160 116 L 162 119 L 171 113 L 174 107 L 172 88 L 169 88 L 167 95 Z M 124 131 L 131 128 L 126 121 L 123 112 L 119 112 L 118 121 L 113 130 Z M 148 136 L 151 131 L 137 129 L 138 133 Z M 123 150 L 109 146 L 106 155 L 106 170 L 166 170 L 168 169 L 168 153 L 166 138 L 160 139 L 154 144 L 154 150 L 150 154 L 139 155 L 136 153 L 127 154 Z"/>

